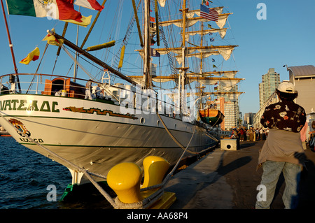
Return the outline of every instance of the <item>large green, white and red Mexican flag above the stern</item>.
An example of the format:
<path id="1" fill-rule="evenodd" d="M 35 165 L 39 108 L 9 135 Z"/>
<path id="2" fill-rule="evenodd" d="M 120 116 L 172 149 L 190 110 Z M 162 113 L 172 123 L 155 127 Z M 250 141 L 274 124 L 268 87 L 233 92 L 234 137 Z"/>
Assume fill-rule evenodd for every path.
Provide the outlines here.
<path id="1" fill-rule="evenodd" d="M 94 0 L 80 0 L 92 2 L 88 6 L 97 10 L 99 5 Z M 10 15 L 28 15 L 34 17 L 48 17 L 48 19 L 64 20 L 86 27 L 91 22 L 91 17 L 85 17 L 73 8 L 73 0 L 6 0 Z M 93 8 L 93 6 L 95 8 Z M 87 7 L 88 8 L 88 7 Z"/>

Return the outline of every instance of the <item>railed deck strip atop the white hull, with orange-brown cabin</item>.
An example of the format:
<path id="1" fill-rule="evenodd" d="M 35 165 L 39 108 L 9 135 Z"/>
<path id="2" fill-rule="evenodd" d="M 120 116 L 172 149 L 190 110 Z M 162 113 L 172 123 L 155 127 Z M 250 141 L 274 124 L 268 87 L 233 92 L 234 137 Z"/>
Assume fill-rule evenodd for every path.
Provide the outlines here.
<path id="1" fill-rule="evenodd" d="M 129 85 L 129 87 L 128 87 Z M 82 78 L 73 78 L 64 75 L 50 75 L 43 73 L 11 73 L 0 77 L 0 95 L 3 94 L 41 94 L 49 96 L 66 96 L 77 99 L 104 101 L 121 105 L 127 95 L 133 99 L 127 101 L 130 107 L 147 112 L 158 110 L 161 115 L 181 118 L 179 107 L 173 102 L 161 101 L 156 92 L 144 94 L 130 84 L 109 85 L 106 82 L 97 82 Z M 141 94 L 141 95 L 139 95 Z M 153 95 L 155 94 L 155 95 Z M 136 97 L 141 96 L 141 101 Z M 126 101 L 123 103 L 127 105 Z M 153 104 L 154 103 L 154 104 Z M 155 112 L 155 110 L 153 111 Z"/>

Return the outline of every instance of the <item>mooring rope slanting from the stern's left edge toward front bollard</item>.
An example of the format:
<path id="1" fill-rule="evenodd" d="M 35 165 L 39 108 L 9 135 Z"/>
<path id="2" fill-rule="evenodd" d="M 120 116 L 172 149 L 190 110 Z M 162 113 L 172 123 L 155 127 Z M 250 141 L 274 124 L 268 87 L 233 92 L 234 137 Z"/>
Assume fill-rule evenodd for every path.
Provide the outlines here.
<path id="1" fill-rule="evenodd" d="M 3 115 L 1 114 L 3 112 L 0 111 L 0 115 L 1 117 L 3 117 Z M 4 113 L 3 113 L 4 114 Z M 3 120 L 6 120 L 5 117 L 3 117 Z M 115 201 L 113 201 L 113 199 L 111 198 L 111 196 L 109 196 L 109 194 L 107 194 L 104 189 L 99 186 L 99 184 L 90 176 L 90 173 L 85 170 L 84 168 L 80 168 L 80 166 L 76 166 L 76 164 L 71 163 L 70 161 L 60 157 L 58 154 L 56 154 L 55 152 L 52 152 L 50 150 L 48 150 L 48 148 L 45 148 L 43 145 L 35 142 L 32 138 L 30 138 L 29 136 L 27 136 L 26 134 L 24 134 L 22 131 L 20 131 L 20 129 L 18 129 L 17 127 L 15 127 L 13 124 L 11 124 L 8 120 L 6 120 L 6 122 L 8 122 L 8 124 L 12 125 L 15 129 L 17 129 L 22 136 L 25 136 L 29 141 L 31 141 L 32 143 L 35 143 L 36 145 L 38 145 L 40 148 L 42 148 L 43 150 L 45 150 L 46 152 L 48 152 L 48 154 L 50 153 L 52 155 L 52 157 L 57 158 L 61 161 L 63 161 L 64 163 L 68 164 L 69 166 L 71 166 L 72 168 L 80 171 L 81 173 L 83 173 L 88 180 L 90 180 L 92 182 L 92 184 L 99 190 L 99 192 L 105 197 L 105 199 L 107 201 L 109 201 L 109 203 L 111 203 L 111 206 L 113 206 L 113 208 L 118 208 L 118 206 L 116 205 Z"/>

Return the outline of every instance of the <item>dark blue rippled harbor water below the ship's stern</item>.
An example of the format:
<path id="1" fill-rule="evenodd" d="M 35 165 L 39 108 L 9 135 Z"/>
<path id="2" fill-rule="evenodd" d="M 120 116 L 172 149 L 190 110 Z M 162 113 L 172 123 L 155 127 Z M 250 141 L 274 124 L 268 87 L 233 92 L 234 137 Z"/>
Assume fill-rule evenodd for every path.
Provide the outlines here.
<path id="1" fill-rule="evenodd" d="M 89 199 L 59 202 L 70 183 L 68 168 L 25 148 L 12 137 L 0 137 L 0 209 L 111 208 L 94 187 L 88 189 Z"/>

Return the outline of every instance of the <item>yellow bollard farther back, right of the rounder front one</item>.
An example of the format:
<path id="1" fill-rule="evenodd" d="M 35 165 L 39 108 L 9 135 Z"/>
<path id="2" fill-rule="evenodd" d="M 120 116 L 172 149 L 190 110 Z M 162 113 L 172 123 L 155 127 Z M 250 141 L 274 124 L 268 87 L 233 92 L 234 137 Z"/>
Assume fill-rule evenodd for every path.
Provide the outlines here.
<path id="1" fill-rule="evenodd" d="M 169 162 L 162 157 L 149 156 L 144 159 L 144 184 L 141 188 L 158 185 L 169 169 Z"/>

